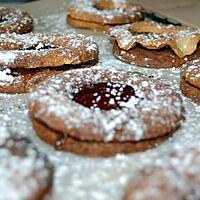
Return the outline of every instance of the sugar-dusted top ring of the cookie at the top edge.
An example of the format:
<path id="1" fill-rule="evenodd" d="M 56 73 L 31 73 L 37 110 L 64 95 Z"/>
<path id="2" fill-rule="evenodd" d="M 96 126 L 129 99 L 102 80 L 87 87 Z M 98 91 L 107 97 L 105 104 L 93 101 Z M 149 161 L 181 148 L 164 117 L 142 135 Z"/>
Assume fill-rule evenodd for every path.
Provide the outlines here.
<path id="1" fill-rule="evenodd" d="M 127 1 L 115 0 L 113 1 L 113 9 L 100 10 L 96 8 L 95 0 L 75 0 L 71 1 L 68 7 L 68 15 L 75 19 L 85 21 L 87 20 L 82 18 L 83 14 L 86 14 L 86 16 L 92 15 L 93 17 L 89 17 L 88 20 L 90 20 L 90 22 L 96 21 L 100 24 L 116 23 L 115 18 L 120 17 L 126 23 L 135 21 L 135 16 L 142 18 L 142 8 L 136 5 L 131 6 L 130 4 L 126 6 L 125 4 L 127 3 Z M 125 7 L 127 8 L 125 9 Z"/>

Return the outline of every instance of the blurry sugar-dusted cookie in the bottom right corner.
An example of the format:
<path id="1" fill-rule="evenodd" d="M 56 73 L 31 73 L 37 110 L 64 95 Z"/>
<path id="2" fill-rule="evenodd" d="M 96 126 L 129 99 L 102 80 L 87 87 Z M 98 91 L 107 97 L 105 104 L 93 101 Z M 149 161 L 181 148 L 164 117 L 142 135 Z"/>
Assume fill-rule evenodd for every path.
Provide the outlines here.
<path id="1" fill-rule="evenodd" d="M 161 158 L 162 159 L 162 158 Z M 129 184 L 123 200 L 198 200 L 200 196 L 199 143 L 157 159 Z"/>

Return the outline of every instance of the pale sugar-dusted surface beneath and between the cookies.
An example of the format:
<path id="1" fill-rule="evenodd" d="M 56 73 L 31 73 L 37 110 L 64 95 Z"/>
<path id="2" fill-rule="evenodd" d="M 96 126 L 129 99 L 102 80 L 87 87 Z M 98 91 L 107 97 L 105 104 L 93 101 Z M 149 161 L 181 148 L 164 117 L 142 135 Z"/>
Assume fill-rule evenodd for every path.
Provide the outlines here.
<path id="1" fill-rule="evenodd" d="M 111 44 L 105 34 L 74 29 L 66 24 L 68 1 L 43 0 L 40 3 L 15 5 L 28 10 L 34 16 L 35 32 L 83 33 L 91 35 L 100 48 L 99 63 L 93 68 L 138 71 L 153 75 L 179 90 L 179 69 L 147 69 L 135 67 L 114 58 Z M 2 4 L 1 4 L 2 5 Z M 38 6 L 39 7 L 35 7 Z M 35 7 L 35 9 L 33 9 Z M 42 12 L 43 11 L 43 12 Z M 20 134 L 32 140 L 38 149 L 46 153 L 55 165 L 52 194 L 48 200 L 120 200 L 130 179 L 138 170 L 153 165 L 156 159 L 165 159 L 173 147 L 187 148 L 200 141 L 200 106 L 183 97 L 186 114 L 182 126 L 174 136 L 157 148 L 142 153 L 111 158 L 89 158 L 72 153 L 55 151 L 42 142 L 34 133 L 28 118 L 29 94 L 0 94 L 0 126 L 6 126 L 11 134 Z"/>

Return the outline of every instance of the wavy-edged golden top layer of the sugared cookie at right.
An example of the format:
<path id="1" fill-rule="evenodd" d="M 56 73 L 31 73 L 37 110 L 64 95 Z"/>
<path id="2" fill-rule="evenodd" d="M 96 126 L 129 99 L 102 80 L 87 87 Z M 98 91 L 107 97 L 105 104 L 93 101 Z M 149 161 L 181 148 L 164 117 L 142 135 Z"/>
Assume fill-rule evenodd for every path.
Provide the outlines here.
<path id="1" fill-rule="evenodd" d="M 146 25 L 148 26 L 148 23 Z M 130 50 L 136 44 L 140 44 L 147 49 L 160 49 L 164 46 L 170 46 L 179 57 L 183 58 L 186 55 L 191 55 L 197 49 L 200 41 L 200 29 L 185 27 L 185 29 L 177 28 L 176 30 L 174 27 L 172 28 L 174 32 L 171 33 L 168 31 L 168 27 L 170 29 L 172 26 L 162 25 L 164 28 L 161 31 L 158 23 L 149 22 L 149 26 L 151 25 L 153 26 L 152 30 L 147 32 L 143 31 L 145 28 L 142 31 L 134 31 L 134 24 L 117 26 L 112 28 L 109 34 L 117 41 L 118 46 L 124 50 Z M 135 26 L 137 27 L 137 25 Z"/>

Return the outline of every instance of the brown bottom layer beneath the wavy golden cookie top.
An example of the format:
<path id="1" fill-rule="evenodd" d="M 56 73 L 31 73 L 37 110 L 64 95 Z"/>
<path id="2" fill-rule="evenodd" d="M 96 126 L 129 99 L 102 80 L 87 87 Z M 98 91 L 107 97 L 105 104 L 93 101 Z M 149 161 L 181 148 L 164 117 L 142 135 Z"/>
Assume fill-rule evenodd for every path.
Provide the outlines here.
<path id="1" fill-rule="evenodd" d="M 180 58 L 169 47 L 164 47 L 159 50 L 150 50 L 137 45 L 133 49 L 123 50 L 119 48 L 116 42 L 114 42 L 113 54 L 120 60 L 136 66 L 148 68 L 172 68 L 180 67 L 187 61 L 199 58 L 200 48 L 192 55 Z"/>

